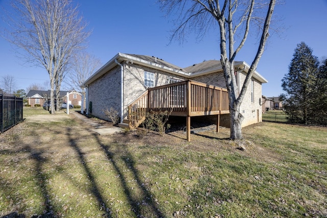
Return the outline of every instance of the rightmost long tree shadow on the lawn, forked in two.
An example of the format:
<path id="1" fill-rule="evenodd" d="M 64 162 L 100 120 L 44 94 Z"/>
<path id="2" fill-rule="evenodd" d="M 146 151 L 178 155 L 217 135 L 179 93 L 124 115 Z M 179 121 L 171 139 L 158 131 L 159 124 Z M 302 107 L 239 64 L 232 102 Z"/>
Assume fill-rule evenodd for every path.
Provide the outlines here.
<path id="1" fill-rule="evenodd" d="M 94 133 L 94 137 L 97 139 L 98 144 L 100 145 L 101 149 L 105 152 L 107 159 L 111 162 L 112 166 L 114 167 L 116 174 L 120 175 L 119 179 L 121 180 L 121 185 L 124 189 L 125 195 L 128 199 L 129 205 L 132 207 L 132 211 L 134 212 L 136 217 L 166 217 L 160 209 L 156 206 L 154 199 L 152 198 L 151 192 L 147 189 L 145 182 L 142 181 L 141 177 L 139 176 L 138 170 L 135 168 L 135 160 L 133 155 L 130 154 L 125 148 L 124 145 L 120 144 L 121 149 L 123 151 L 119 151 L 118 153 L 123 153 L 124 155 L 119 155 L 117 152 L 110 150 L 110 146 L 106 146 L 103 144 L 99 138 L 99 135 Z M 127 186 L 126 179 L 124 178 L 123 169 L 120 168 L 118 163 L 116 162 L 116 158 L 121 159 L 126 166 L 131 170 L 134 180 L 137 183 L 138 189 L 141 190 L 141 197 L 142 202 L 139 202 L 139 199 L 136 199 L 130 189 Z M 147 211 L 142 209 L 142 205 L 147 206 Z M 148 211 L 150 210 L 150 211 Z M 150 213 L 150 214 L 148 214 Z"/>

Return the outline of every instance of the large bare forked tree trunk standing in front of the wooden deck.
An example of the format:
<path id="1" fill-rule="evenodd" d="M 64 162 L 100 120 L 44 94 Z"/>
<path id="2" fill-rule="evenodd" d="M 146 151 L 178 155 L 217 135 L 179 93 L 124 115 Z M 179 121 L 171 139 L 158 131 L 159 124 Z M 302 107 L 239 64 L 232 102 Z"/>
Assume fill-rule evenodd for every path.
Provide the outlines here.
<path id="1" fill-rule="evenodd" d="M 219 27 L 220 61 L 229 96 L 230 138 L 242 139 L 241 127 L 244 116 L 240 112 L 240 106 L 252 74 L 264 52 L 276 0 L 270 0 L 269 4 L 263 1 L 256 3 L 254 0 L 159 0 L 159 2 L 161 9 L 167 10 L 169 14 L 179 15 L 175 20 L 177 26 L 172 32 L 171 40 L 175 38 L 182 41 L 188 30 L 195 31 L 201 38 L 209 29 Z M 264 8 L 267 8 L 266 14 L 260 16 Z M 234 60 L 248 37 L 252 23 L 259 27 L 261 40 L 239 94 Z"/>

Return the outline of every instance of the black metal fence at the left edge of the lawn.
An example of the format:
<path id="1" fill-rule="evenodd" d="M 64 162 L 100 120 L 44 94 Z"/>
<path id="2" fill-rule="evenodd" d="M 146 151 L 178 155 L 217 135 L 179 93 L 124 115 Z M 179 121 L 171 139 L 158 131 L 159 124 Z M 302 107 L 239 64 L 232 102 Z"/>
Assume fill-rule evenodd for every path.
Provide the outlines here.
<path id="1" fill-rule="evenodd" d="M 0 132 L 22 121 L 22 98 L 0 95 Z"/>

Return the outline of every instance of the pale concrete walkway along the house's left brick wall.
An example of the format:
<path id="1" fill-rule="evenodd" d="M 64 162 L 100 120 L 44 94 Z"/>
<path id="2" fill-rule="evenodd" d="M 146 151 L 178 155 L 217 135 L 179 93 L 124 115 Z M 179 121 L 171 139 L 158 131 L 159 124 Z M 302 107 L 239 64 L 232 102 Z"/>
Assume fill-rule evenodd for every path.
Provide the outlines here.
<path id="1" fill-rule="evenodd" d="M 85 124 L 90 125 L 92 128 L 92 131 L 95 131 L 96 133 L 98 133 L 99 135 L 111 135 L 114 134 L 116 132 L 123 132 L 122 128 L 119 127 L 105 127 L 102 126 L 101 124 L 95 122 L 94 120 L 91 120 L 90 118 L 87 118 L 86 116 L 76 112 L 76 111 L 72 111 L 71 114 L 73 114 L 74 116 L 78 117 L 79 119 L 81 119 Z"/>

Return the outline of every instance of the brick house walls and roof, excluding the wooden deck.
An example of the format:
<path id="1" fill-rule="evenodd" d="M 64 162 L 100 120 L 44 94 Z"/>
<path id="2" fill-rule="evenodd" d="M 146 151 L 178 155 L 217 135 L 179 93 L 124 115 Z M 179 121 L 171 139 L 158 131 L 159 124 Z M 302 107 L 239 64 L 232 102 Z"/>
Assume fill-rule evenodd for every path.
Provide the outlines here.
<path id="1" fill-rule="evenodd" d="M 242 87 L 249 65 L 235 62 L 237 80 Z M 212 60 L 181 68 L 156 57 L 119 53 L 88 78 L 81 87 L 86 88 L 86 110 L 102 119 L 108 119 L 104 110 L 114 108 L 120 117 L 128 115 L 127 107 L 149 87 L 194 80 L 225 88 L 226 83 L 220 61 Z M 242 126 L 262 121 L 262 83 L 267 81 L 254 72 L 250 87 L 241 105 L 245 119 Z M 229 114 L 221 117 L 221 125 L 229 127 Z"/>

